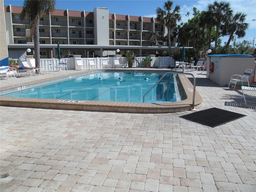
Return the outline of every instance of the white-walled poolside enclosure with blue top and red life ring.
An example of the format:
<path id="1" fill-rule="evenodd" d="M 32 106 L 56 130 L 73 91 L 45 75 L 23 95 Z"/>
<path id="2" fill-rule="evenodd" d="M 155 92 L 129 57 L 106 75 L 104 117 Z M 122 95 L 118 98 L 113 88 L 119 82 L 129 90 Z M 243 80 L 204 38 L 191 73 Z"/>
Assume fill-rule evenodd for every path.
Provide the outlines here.
<path id="1" fill-rule="evenodd" d="M 208 55 L 206 68 L 206 78 L 220 86 L 227 86 L 233 74 L 242 75 L 246 69 L 254 69 L 254 56 L 246 54 Z M 249 82 L 252 82 L 252 74 Z"/>

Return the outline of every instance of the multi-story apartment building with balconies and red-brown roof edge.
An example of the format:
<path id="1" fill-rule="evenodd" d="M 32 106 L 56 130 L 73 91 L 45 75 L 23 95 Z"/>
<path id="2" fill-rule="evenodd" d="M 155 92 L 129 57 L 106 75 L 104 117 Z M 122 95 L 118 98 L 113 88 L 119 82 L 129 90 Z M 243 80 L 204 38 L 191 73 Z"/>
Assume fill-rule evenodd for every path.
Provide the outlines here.
<path id="1" fill-rule="evenodd" d="M 9 58 L 20 58 L 27 48 L 33 50 L 29 20 L 21 20 L 19 6 L 4 6 L 4 12 Z M 110 14 L 108 8 L 94 8 L 93 12 L 54 10 L 40 18 L 39 30 L 40 55 L 45 58 L 57 57 L 58 41 L 63 55 L 82 57 L 115 54 L 117 48 L 119 54 L 136 50 L 140 56 L 168 50 L 163 41 L 166 27 L 156 18 Z"/>

